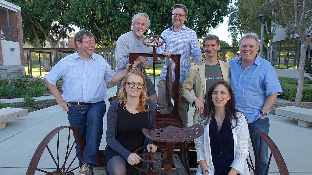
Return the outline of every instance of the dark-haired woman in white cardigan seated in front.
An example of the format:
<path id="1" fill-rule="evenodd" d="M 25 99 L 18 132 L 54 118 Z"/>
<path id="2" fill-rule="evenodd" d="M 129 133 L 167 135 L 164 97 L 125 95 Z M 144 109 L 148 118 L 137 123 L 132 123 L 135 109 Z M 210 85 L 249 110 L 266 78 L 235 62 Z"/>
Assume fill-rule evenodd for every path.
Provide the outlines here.
<path id="1" fill-rule="evenodd" d="M 226 81 L 214 83 L 207 93 L 198 123 L 204 134 L 196 139 L 196 175 L 249 175 L 249 132 L 245 116 L 235 109 L 235 97 Z"/>

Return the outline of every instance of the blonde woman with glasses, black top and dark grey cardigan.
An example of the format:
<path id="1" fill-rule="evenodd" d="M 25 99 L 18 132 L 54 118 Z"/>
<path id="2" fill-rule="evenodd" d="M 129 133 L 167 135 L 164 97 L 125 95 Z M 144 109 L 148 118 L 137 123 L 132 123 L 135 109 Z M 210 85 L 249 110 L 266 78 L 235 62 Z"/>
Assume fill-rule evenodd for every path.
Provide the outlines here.
<path id="1" fill-rule="evenodd" d="M 157 150 L 153 140 L 142 133 L 143 128 L 155 129 L 156 106 L 145 92 L 143 74 L 134 69 L 122 80 L 119 98 L 110 104 L 104 153 L 106 174 L 134 175 L 134 167 L 145 166 L 134 150 L 142 146 L 148 151 Z"/>

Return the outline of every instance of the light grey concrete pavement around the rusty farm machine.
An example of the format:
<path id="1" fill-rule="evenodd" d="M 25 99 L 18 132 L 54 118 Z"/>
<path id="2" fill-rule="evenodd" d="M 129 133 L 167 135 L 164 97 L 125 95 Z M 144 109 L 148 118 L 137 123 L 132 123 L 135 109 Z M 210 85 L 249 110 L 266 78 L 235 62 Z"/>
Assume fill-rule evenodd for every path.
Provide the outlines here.
<path id="1" fill-rule="evenodd" d="M 115 92 L 116 86 L 108 89 L 108 95 L 105 99 L 106 110 L 109 107 L 108 97 L 114 96 Z M 188 125 L 192 125 L 194 111 L 195 108 L 190 107 Z M 100 149 L 105 149 L 106 146 L 106 123 L 107 114 L 104 116 L 104 135 Z M 69 123 L 66 112 L 59 105 L 30 112 L 28 116 L 8 121 L 6 128 L 0 130 L 0 175 L 26 174 L 32 155 L 41 140 L 51 130 L 63 125 L 69 126 Z M 270 125 L 269 135 L 279 148 L 290 174 L 312 175 L 312 127 L 300 127 L 295 119 L 275 115 L 270 115 Z M 68 132 L 61 135 L 61 140 L 66 140 L 67 135 Z M 49 147 L 52 152 L 55 152 L 56 146 L 53 143 L 56 144 L 56 140 L 52 140 Z M 66 148 L 59 151 L 61 155 L 65 155 Z M 41 156 L 39 163 L 41 168 L 51 170 L 55 167 L 53 164 L 48 153 Z M 74 164 L 77 165 L 78 163 Z M 95 175 L 105 174 L 104 167 L 95 167 L 94 170 Z M 269 172 L 270 174 L 278 174 L 278 169 L 274 163 L 271 164 Z M 74 171 L 74 173 L 78 174 L 78 171 Z"/>

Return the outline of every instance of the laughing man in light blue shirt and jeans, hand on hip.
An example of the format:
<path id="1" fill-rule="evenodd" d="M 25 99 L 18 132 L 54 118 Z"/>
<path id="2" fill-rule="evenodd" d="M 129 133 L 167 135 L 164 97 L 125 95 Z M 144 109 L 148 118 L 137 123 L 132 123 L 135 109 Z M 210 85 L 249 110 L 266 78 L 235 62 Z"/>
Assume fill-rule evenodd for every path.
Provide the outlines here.
<path id="1" fill-rule="evenodd" d="M 74 40 L 77 52 L 64 57 L 51 69 L 46 75 L 46 86 L 57 103 L 67 111 L 69 124 L 79 131 L 85 143 L 79 175 L 92 175 L 92 165 L 98 164 L 97 155 L 103 135 L 106 82 L 115 83 L 124 78 L 131 64 L 119 73 L 110 69 L 106 60 L 94 53 L 96 43 L 90 31 L 78 31 Z M 132 68 L 135 67 L 132 65 Z M 63 79 L 63 97 L 56 87 L 60 78 Z M 77 141 L 77 154 L 79 151 Z"/>

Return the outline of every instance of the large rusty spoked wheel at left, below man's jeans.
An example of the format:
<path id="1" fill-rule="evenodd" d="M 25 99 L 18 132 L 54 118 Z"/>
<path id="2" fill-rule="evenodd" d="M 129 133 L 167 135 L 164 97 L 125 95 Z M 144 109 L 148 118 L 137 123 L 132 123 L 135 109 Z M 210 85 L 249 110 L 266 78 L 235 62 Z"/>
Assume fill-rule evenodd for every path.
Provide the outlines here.
<path id="1" fill-rule="evenodd" d="M 72 133 L 77 136 L 76 139 L 73 138 Z M 79 143 L 80 147 L 77 154 L 75 142 Z M 37 147 L 26 175 L 34 175 L 39 172 L 46 173 L 46 175 L 74 175 L 72 171 L 80 168 L 81 162 L 79 162 L 78 167 L 71 167 L 73 163 L 78 163 L 78 156 L 82 160 L 84 149 L 84 142 L 76 128 L 70 126 L 57 127 L 46 135 Z"/>

